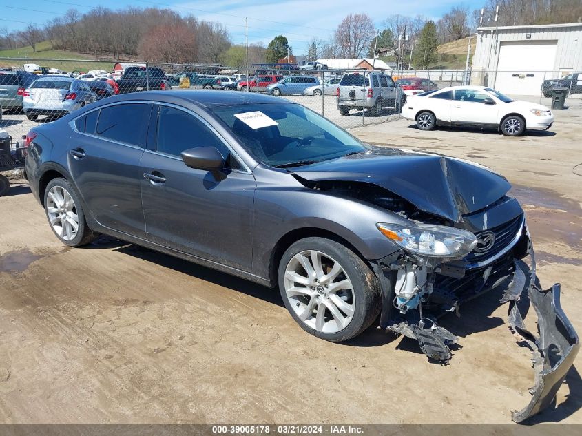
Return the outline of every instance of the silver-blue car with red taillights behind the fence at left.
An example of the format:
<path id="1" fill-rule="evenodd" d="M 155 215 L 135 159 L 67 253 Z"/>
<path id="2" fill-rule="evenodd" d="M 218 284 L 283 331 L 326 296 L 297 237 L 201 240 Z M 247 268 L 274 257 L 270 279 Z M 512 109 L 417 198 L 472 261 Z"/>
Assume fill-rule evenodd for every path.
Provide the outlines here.
<path id="1" fill-rule="evenodd" d="M 22 94 L 23 110 L 31 121 L 39 115 L 62 116 L 96 100 L 87 83 L 57 75 L 39 77 Z"/>

